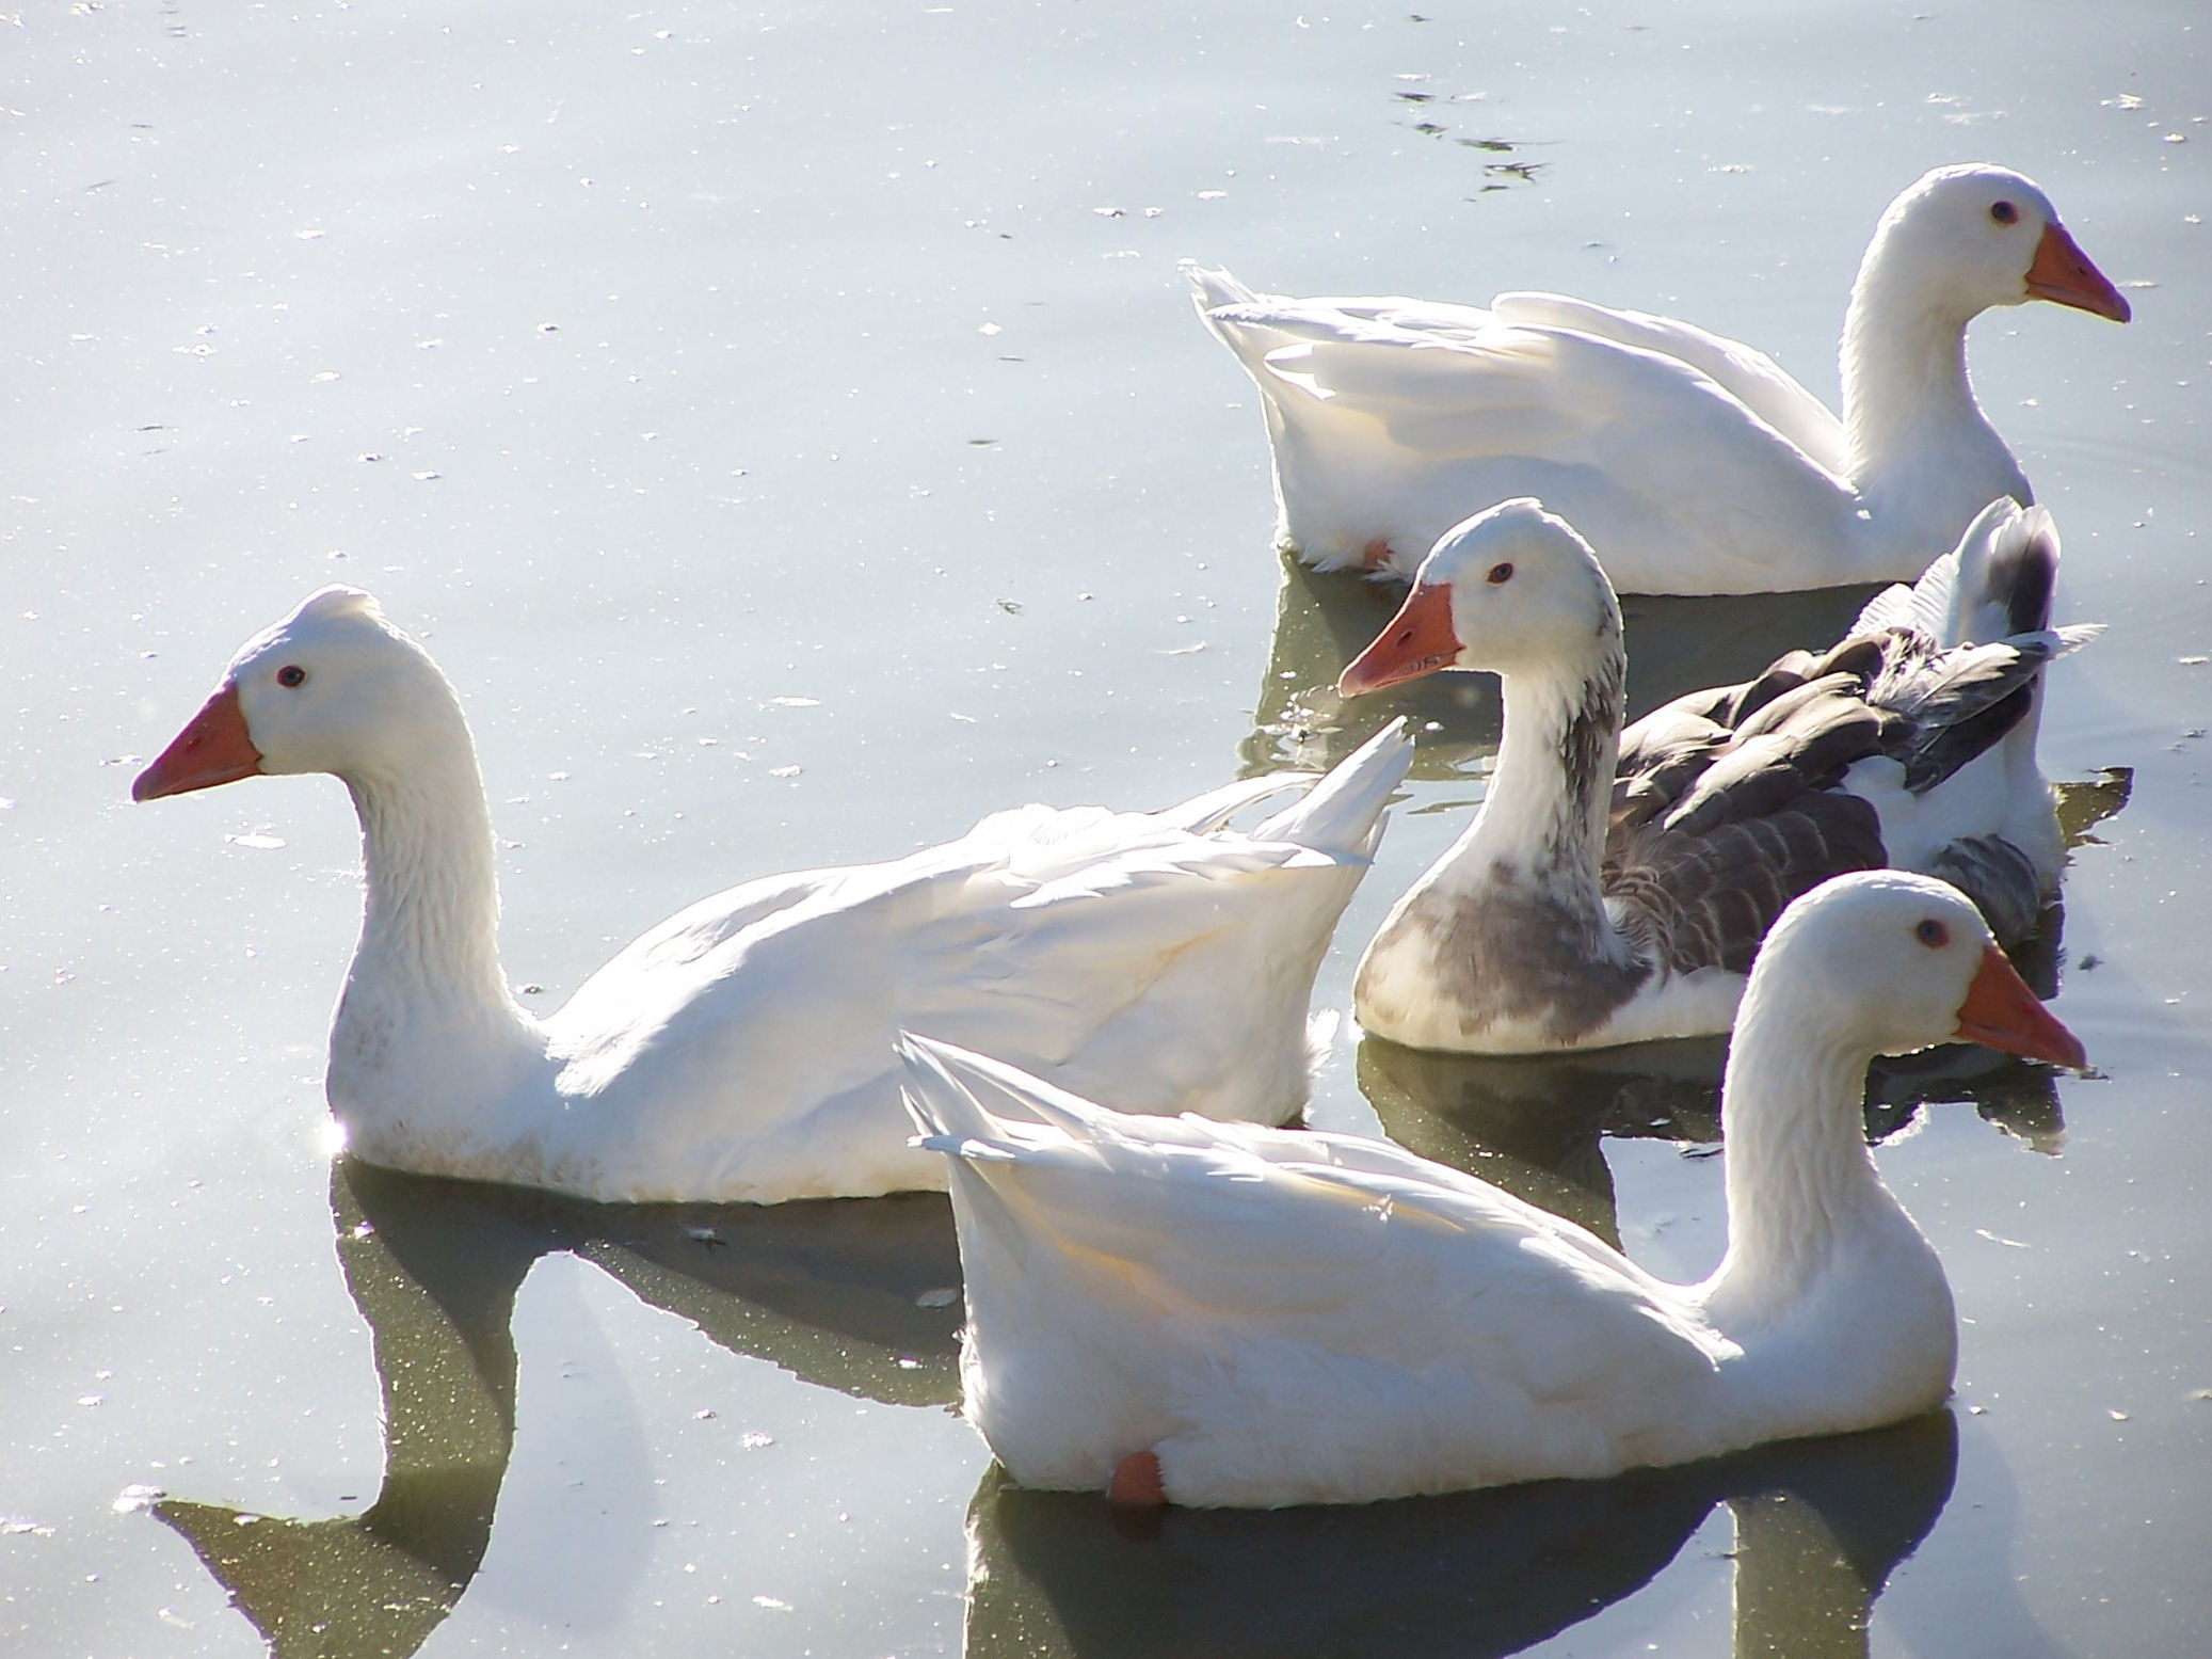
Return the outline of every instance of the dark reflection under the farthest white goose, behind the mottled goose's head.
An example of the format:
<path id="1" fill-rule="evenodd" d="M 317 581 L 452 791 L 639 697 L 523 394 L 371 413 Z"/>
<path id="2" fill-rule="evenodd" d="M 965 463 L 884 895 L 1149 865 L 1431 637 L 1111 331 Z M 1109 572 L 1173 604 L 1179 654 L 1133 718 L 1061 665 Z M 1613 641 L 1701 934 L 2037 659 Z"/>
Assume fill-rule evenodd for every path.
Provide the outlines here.
<path id="1" fill-rule="evenodd" d="M 1489 675 L 1429 675 L 1374 697 L 1340 699 L 1336 675 L 1383 633 L 1405 586 L 1279 557 L 1283 586 L 1267 672 L 1252 732 L 1237 750 L 1243 776 L 1327 770 L 1398 714 L 1422 732 L 1416 779 L 1467 776 L 1498 752 L 1498 681 Z M 1621 599 L 1628 717 L 1683 692 L 1752 679 L 1796 646 L 1840 639 L 1876 593 L 1878 586 L 1714 599 L 1630 595 Z"/>

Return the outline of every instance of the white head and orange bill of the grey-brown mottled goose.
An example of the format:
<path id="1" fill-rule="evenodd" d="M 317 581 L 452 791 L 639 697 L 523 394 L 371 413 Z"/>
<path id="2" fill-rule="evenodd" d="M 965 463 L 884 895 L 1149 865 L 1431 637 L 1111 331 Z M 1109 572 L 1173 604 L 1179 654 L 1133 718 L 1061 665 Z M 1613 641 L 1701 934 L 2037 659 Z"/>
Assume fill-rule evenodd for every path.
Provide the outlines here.
<path id="1" fill-rule="evenodd" d="M 1559 670 L 1619 650 L 1621 606 L 1590 544 L 1526 495 L 1444 531 L 1398 615 L 1345 672 L 1345 697 L 1438 668 Z"/>

